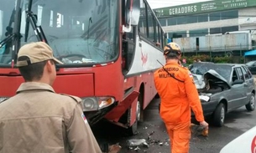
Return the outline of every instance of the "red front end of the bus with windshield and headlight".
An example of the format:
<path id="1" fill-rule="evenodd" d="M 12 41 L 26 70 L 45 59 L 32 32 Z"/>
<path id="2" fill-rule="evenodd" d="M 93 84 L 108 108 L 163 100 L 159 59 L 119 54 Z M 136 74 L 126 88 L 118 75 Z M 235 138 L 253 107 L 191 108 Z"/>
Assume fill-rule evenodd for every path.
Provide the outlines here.
<path id="1" fill-rule="evenodd" d="M 123 94 L 120 1 L 0 1 L 1 102 L 24 82 L 15 67 L 18 48 L 44 41 L 64 63 L 56 65 L 55 92 L 81 97 L 91 125 L 117 105 Z"/>

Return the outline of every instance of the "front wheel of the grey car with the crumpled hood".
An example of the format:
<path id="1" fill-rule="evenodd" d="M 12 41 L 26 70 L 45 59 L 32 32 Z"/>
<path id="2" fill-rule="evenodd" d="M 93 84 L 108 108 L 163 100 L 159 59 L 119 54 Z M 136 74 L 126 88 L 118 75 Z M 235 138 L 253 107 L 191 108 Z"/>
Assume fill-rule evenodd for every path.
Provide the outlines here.
<path id="1" fill-rule="evenodd" d="M 213 125 L 216 125 L 219 127 L 224 125 L 225 115 L 226 115 L 225 105 L 220 103 L 219 105 L 217 105 L 216 110 L 213 112 L 213 116 L 212 116 Z"/>

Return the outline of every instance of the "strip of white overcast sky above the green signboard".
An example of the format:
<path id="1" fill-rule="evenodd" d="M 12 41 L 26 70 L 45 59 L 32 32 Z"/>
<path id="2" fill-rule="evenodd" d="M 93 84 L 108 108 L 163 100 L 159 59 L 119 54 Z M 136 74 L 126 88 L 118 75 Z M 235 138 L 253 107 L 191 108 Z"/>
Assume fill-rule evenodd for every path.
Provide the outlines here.
<path id="1" fill-rule="evenodd" d="M 165 8 L 187 3 L 200 3 L 209 0 L 148 0 L 151 8 Z"/>

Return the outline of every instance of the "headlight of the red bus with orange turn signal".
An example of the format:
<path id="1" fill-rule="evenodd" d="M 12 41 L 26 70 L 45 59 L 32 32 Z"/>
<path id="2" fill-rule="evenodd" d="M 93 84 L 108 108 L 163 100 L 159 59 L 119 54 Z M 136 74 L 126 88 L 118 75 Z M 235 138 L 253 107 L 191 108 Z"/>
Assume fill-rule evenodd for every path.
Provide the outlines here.
<path id="1" fill-rule="evenodd" d="M 115 99 L 112 97 L 86 97 L 82 98 L 83 111 L 101 110 L 112 105 Z"/>

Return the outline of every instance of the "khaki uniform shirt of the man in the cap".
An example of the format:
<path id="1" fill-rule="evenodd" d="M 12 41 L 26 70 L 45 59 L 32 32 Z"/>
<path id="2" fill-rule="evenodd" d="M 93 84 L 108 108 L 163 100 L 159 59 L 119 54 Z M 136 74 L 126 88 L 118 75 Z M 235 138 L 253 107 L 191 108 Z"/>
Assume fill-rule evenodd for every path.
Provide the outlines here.
<path id="1" fill-rule="evenodd" d="M 100 153 L 81 99 L 23 83 L 0 104 L 0 153 Z"/>

